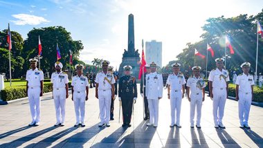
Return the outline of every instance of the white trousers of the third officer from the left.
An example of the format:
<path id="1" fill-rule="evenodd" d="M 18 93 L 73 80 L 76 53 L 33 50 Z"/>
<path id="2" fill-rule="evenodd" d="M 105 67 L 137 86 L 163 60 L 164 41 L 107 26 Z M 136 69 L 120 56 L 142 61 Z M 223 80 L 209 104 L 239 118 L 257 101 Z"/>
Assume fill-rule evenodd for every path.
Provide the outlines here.
<path id="1" fill-rule="evenodd" d="M 76 121 L 84 122 L 86 91 L 74 91 L 73 93 Z"/>

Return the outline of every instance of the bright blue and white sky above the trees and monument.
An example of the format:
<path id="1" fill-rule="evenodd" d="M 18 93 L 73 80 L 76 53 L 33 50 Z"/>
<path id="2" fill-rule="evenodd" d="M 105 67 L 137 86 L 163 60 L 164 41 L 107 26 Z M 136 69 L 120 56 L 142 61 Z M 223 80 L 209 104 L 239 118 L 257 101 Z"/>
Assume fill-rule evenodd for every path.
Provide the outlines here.
<path id="1" fill-rule="evenodd" d="M 257 15 L 262 8 L 261 0 L 0 0 L 0 30 L 10 23 L 26 39 L 33 28 L 63 26 L 84 44 L 82 61 L 107 59 L 116 68 L 127 49 L 132 13 L 135 48 L 141 55 L 142 39 L 162 41 L 165 66 L 187 43 L 200 40 L 206 19 Z"/>

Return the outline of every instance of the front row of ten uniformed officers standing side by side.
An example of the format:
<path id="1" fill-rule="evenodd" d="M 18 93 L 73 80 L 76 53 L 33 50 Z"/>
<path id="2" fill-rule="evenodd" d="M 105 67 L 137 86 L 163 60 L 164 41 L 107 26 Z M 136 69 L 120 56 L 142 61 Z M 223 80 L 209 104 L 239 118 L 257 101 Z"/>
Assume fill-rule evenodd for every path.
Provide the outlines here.
<path id="1" fill-rule="evenodd" d="M 224 59 L 215 59 L 216 66 L 210 72 L 208 77 L 210 98 L 212 100 L 212 113 L 215 128 L 224 129 L 223 124 L 224 107 L 228 96 L 229 73 L 224 69 Z M 127 65 L 125 76 L 120 77 L 118 82 L 118 91 L 116 75 L 113 67 L 109 66 L 107 60 L 102 61 L 102 71 L 96 75 L 96 98 L 100 107 L 99 127 L 110 127 L 109 120 L 114 120 L 114 100 L 117 97 L 120 101 L 123 112 L 123 127 L 131 127 L 131 115 L 134 103 L 137 100 L 136 78 L 131 76 L 132 67 Z M 37 59 L 30 59 L 31 69 L 26 73 L 27 93 L 30 104 L 30 113 L 32 122 L 29 126 L 38 126 L 40 124 L 40 97 L 43 95 L 43 72 L 37 69 Z M 201 128 L 201 108 L 205 100 L 206 82 L 200 77 L 200 66 L 192 67 L 193 76 L 185 82 L 185 77 L 180 72 L 179 63 L 171 65 L 173 73 L 167 77 L 167 98 L 170 100 L 170 127 L 181 127 L 181 100 L 184 98 L 185 87 L 187 86 L 187 98 L 190 102 L 190 127 Z M 55 63 L 55 73 L 51 75 L 53 83 L 53 100 L 57 122 L 54 126 L 64 126 L 65 124 L 65 103 L 69 98 L 69 79 L 66 73 L 63 73 L 62 63 Z M 140 81 L 140 95 L 144 99 L 144 119 L 148 120 L 147 126 L 158 127 L 158 104 L 163 98 L 163 77 L 156 72 L 156 64 L 152 62 L 145 66 L 145 75 Z M 236 80 L 236 99 L 238 100 L 240 128 L 250 128 L 248 126 L 248 115 L 253 100 L 253 75 L 248 72 L 251 64 L 244 62 L 241 65 L 243 73 L 237 76 Z M 72 79 L 72 98 L 75 107 L 76 123 L 75 127 L 85 127 L 85 102 L 89 100 L 89 82 L 83 75 L 82 64 L 75 65 L 77 75 Z M 196 114 L 196 121 L 194 116 Z M 120 120 L 120 111 L 119 111 Z"/>

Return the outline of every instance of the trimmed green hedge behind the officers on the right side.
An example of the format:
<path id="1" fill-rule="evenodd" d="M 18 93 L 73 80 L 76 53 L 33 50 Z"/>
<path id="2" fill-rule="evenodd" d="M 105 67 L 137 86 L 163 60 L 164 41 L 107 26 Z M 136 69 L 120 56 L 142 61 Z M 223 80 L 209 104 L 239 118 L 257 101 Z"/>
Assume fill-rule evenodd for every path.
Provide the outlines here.
<path id="1" fill-rule="evenodd" d="M 208 91 L 208 86 L 206 86 L 206 91 Z M 228 96 L 235 97 L 235 84 L 228 85 Z M 263 89 L 258 86 L 254 86 L 254 102 L 263 102 Z"/>

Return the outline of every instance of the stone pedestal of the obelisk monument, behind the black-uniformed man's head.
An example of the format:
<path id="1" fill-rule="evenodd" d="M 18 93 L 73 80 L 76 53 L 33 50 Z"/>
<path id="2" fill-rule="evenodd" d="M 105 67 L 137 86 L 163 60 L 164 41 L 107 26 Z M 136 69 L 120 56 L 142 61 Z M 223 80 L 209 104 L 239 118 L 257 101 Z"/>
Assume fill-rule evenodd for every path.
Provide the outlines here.
<path id="1" fill-rule="evenodd" d="M 140 72 L 140 57 L 123 57 L 123 62 L 121 62 L 120 67 L 119 67 L 119 75 L 122 77 L 124 74 L 124 69 L 123 66 L 125 65 L 130 65 L 132 67 L 131 75 L 136 77 L 138 79 L 138 75 Z"/>

